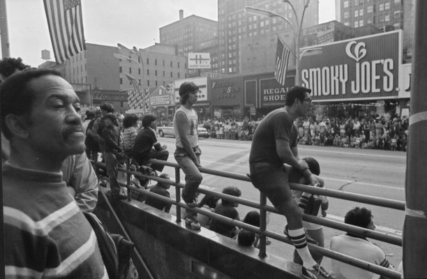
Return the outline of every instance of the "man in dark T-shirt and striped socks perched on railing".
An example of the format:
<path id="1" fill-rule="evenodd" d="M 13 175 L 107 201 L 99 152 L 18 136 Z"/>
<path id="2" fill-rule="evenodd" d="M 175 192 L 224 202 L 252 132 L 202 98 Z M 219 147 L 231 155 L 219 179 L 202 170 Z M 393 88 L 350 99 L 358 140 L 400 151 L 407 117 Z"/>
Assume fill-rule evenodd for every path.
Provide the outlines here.
<path id="1" fill-rule="evenodd" d="M 299 158 L 298 130 L 293 124 L 294 119 L 307 116 L 310 112 L 310 92 L 310 89 L 303 86 L 293 86 L 286 94 L 285 107 L 270 112 L 262 119 L 255 130 L 250 148 L 250 178 L 255 188 L 267 195 L 276 209 L 285 215 L 287 232 L 304 262 L 301 271 L 303 276 L 316 278 L 313 273 L 317 273 L 330 278 L 329 273 L 310 255 L 301 209 L 292 198 L 288 174 L 283 165 L 299 170 L 308 185 L 315 186 L 319 183 L 306 161 Z"/>

